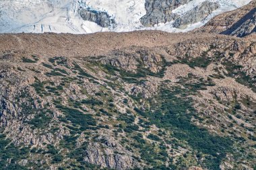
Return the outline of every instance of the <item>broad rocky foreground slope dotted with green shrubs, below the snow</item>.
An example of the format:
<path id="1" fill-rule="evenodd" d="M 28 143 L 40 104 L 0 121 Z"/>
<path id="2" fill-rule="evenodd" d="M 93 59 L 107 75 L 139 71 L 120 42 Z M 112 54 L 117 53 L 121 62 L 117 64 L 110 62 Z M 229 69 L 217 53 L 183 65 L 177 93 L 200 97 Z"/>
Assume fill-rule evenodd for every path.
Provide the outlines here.
<path id="1" fill-rule="evenodd" d="M 255 169 L 256 39 L 0 35 L 3 169 Z"/>

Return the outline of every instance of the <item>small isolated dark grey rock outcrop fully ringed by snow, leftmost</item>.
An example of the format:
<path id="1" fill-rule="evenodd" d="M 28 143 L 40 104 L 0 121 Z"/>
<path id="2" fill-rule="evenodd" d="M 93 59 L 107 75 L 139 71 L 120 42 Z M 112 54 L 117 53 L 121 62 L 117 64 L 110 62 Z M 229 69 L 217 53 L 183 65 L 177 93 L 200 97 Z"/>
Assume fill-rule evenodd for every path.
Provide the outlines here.
<path id="1" fill-rule="evenodd" d="M 95 22 L 101 27 L 109 27 L 115 23 L 115 20 L 111 18 L 105 11 L 96 11 L 90 8 L 80 9 L 79 14 L 85 21 Z"/>

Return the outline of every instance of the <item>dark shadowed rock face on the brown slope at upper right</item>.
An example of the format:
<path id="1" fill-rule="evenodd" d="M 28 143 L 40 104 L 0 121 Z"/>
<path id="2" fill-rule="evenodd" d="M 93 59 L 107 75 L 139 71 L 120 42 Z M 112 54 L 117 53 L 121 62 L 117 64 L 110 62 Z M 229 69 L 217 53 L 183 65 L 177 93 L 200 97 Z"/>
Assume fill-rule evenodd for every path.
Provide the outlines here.
<path id="1" fill-rule="evenodd" d="M 249 11 L 247 15 L 222 34 L 244 37 L 253 32 L 256 32 L 256 9 Z"/>

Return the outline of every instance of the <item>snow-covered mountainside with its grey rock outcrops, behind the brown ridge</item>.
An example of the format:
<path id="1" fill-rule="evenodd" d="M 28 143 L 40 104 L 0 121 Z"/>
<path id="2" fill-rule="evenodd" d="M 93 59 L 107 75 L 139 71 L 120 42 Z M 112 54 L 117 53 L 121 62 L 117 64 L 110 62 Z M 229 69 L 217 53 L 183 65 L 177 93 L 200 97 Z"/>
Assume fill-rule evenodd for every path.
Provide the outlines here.
<path id="1" fill-rule="evenodd" d="M 251 0 L 1 0 L 0 33 L 186 32 Z"/>

